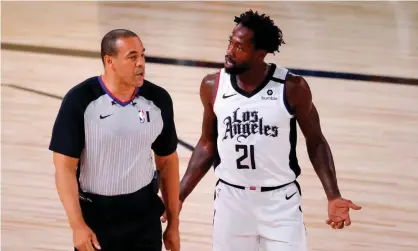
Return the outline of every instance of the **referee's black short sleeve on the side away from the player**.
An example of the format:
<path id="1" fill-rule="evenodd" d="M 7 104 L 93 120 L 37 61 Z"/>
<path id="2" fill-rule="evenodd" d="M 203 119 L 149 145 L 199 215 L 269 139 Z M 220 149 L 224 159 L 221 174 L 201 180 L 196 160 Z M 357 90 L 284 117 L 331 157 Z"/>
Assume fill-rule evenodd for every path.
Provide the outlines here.
<path id="1" fill-rule="evenodd" d="M 80 158 L 84 148 L 84 109 L 79 92 L 72 89 L 64 97 L 49 145 L 49 150 L 73 158 Z"/>

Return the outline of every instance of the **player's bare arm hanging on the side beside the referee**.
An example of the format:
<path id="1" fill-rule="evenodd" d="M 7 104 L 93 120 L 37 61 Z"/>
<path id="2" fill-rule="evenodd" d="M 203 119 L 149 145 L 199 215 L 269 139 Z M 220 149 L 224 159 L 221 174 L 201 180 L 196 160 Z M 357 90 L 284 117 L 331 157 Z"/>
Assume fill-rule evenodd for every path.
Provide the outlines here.
<path id="1" fill-rule="evenodd" d="M 180 182 L 181 203 L 189 196 L 213 164 L 216 151 L 216 115 L 213 104 L 219 74 L 205 76 L 200 85 L 200 99 L 203 104 L 202 133 L 192 153 L 189 164 Z"/>

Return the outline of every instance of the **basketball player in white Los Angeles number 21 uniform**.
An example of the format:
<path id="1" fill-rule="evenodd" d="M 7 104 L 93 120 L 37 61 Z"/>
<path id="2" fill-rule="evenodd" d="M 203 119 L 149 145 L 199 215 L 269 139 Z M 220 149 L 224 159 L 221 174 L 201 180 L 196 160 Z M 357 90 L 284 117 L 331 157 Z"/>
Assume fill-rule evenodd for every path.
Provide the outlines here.
<path id="1" fill-rule="evenodd" d="M 360 207 L 341 197 L 307 82 L 264 62 L 284 44 L 281 30 L 251 10 L 235 23 L 225 67 L 200 87 L 202 134 L 181 181 L 180 200 L 214 163 L 214 251 L 305 251 L 296 123 L 328 198 L 326 222 L 348 226 L 349 209 Z"/>

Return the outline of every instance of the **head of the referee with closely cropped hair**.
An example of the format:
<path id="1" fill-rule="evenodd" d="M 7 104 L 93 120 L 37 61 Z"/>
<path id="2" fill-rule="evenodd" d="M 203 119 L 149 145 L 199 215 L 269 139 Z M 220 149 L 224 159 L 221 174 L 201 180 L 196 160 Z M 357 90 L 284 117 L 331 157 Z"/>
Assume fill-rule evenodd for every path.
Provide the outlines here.
<path id="1" fill-rule="evenodd" d="M 130 30 L 111 30 L 102 39 L 101 56 L 105 69 L 124 84 L 137 87 L 143 84 L 144 53 L 141 39 Z"/>

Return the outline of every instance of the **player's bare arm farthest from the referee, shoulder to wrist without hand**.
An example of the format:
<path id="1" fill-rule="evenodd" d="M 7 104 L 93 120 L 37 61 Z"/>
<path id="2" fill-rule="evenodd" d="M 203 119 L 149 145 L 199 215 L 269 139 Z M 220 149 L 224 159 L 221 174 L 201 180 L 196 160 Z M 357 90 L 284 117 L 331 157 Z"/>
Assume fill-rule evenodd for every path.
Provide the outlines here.
<path id="1" fill-rule="evenodd" d="M 318 115 L 312 102 L 308 83 L 299 76 L 291 76 L 287 81 L 287 99 L 293 107 L 299 127 L 305 136 L 310 161 L 317 173 L 328 200 L 340 197 L 334 160 L 326 141 Z"/>

